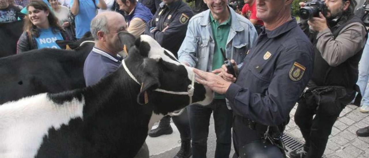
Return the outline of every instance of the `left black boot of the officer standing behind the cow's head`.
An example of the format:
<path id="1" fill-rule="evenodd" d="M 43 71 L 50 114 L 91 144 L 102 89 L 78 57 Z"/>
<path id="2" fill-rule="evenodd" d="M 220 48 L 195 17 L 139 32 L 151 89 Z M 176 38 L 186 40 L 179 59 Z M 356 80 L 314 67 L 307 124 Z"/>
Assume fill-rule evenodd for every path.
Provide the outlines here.
<path id="1" fill-rule="evenodd" d="M 165 116 L 160 120 L 159 126 L 149 132 L 149 136 L 159 137 L 160 135 L 163 134 L 172 134 L 172 133 L 173 129 L 170 126 L 170 116 Z"/>

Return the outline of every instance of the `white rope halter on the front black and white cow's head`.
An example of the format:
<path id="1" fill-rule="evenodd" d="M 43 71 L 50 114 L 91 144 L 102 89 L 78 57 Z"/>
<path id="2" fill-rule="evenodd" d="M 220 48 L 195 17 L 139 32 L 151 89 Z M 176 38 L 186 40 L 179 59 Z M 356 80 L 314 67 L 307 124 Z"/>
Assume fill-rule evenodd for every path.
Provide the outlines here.
<path id="1" fill-rule="evenodd" d="M 137 79 L 132 75 L 132 73 L 130 72 L 130 70 L 128 70 L 127 65 L 125 65 L 124 60 L 122 61 L 122 65 L 125 69 L 125 71 L 128 73 L 128 75 L 135 81 L 137 82 L 139 85 L 141 85 Z M 173 91 L 169 91 L 169 90 L 164 90 L 164 89 L 155 89 L 156 92 L 162 92 L 162 93 L 169 93 L 169 94 L 173 94 L 173 95 L 188 95 L 190 97 L 190 104 L 192 104 L 192 96 L 193 96 L 193 92 L 195 91 L 195 75 L 192 75 L 191 78 L 191 85 L 188 85 L 188 90 L 187 92 L 173 92 Z M 183 113 L 183 109 L 181 109 L 178 113 L 168 113 L 168 115 L 170 116 L 179 116 L 180 114 Z"/>

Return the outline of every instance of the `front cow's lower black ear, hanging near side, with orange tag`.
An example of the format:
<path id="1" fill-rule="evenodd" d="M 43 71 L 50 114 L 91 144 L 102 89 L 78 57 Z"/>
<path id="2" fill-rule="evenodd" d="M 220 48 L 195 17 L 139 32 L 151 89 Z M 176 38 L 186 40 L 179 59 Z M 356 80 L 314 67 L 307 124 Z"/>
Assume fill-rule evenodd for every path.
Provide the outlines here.
<path id="1" fill-rule="evenodd" d="M 151 90 L 157 89 L 160 86 L 159 78 L 157 76 L 147 75 L 142 79 L 141 91 L 137 96 L 137 103 L 143 105 L 150 102 L 148 93 Z"/>

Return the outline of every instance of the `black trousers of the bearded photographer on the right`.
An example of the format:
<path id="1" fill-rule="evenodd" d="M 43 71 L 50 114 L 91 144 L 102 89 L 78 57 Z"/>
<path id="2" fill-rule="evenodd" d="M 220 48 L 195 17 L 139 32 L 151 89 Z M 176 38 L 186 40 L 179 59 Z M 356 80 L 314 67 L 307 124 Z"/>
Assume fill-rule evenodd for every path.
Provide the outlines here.
<path id="1" fill-rule="evenodd" d="M 336 102 L 320 104 L 318 109 L 317 107 L 317 104 L 306 104 L 304 99 L 301 99 L 294 116 L 306 141 L 307 158 L 321 158 L 323 156 L 328 136 L 331 134 L 333 124 L 344 105 Z M 314 114 L 316 115 L 313 119 Z"/>

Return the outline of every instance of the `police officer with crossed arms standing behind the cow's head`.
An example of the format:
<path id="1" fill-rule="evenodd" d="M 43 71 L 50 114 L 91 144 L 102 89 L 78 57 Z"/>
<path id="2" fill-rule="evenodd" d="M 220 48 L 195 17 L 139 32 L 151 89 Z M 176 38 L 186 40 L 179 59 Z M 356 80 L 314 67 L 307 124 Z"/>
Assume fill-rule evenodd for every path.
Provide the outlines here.
<path id="1" fill-rule="evenodd" d="M 168 49 L 176 58 L 179 47 L 186 36 L 187 25 L 193 16 L 191 8 L 182 0 L 163 0 L 151 21 L 146 24 L 145 34 L 154 38 L 161 47 Z M 188 158 L 192 155 L 191 135 L 187 110 L 180 116 L 172 117 L 181 137 L 181 148 L 175 158 Z M 170 116 L 160 121 L 158 128 L 151 130 L 149 136 L 158 137 L 171 134 Z"/>

